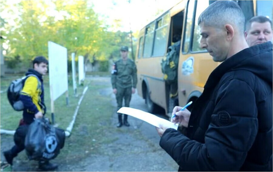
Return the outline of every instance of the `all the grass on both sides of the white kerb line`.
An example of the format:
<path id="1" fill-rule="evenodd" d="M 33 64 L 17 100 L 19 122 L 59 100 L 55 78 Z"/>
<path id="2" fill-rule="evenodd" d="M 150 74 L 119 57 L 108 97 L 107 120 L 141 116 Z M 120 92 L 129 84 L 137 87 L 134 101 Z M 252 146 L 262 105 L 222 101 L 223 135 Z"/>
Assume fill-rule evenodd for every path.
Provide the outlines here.
<path id="1" fill-rule="evenodd" d="M 10 79 L 1 78 L 0 86 L 8 85 L 12 79 L 17 76 L 9 76 Z M 71 79 L 71 78 L 70 78 Z M 45 104 L 47 105 L 47 117 L 50 117 L 50 93 L 49 78 L 44 77 L 45 86 Z M 72 116 L 82 96 L 85 86 L 89 86 L 86 94 L 79 106 L 78 115 L 72 129 L 70 137 L 66 138 L 65 146 L 61 150 L 56 160 L 58 163 L 79 162 L 92 153 L 99 153 L 99 147 L 103 143 L 111 143 L 115 140 L 113 137 L 107 137 L 115 132 L 116 127 L 111 125 L 111 117 L 114 109 L 111 105 L 111 97 L 101 96 L 99 90 L 111 87 L 111 83 L 96 84 L 95 81 L 85 80 L 83 86 L 77 86 L 78 97 L 73 95 L 72 83 L 69 83 L 69 106 L 66 106 L 65 94 L 60 96 L 55 102 L 55 122 L 59 128 L 66 129 L 72 121 Z M 1 93 L 1 129 L 15 130 L 19 120 L 22 118 L 22 112 L 16 112 L 8 103 L 6 93 Z M 1 135 L 1 137 L 10 137 Z M 1 140 L 1 144 L 2 140 Z M 14 143 L 11 143 L 11 146 Z M 26 160 L 25 153 L 18 156 L 18 160 Z"/>

